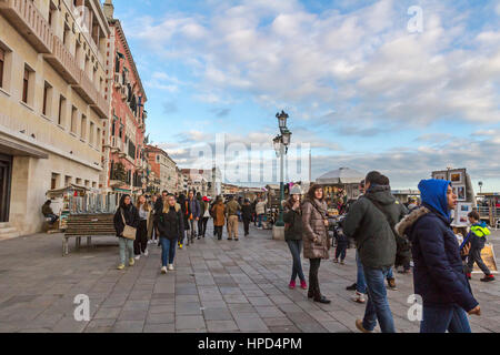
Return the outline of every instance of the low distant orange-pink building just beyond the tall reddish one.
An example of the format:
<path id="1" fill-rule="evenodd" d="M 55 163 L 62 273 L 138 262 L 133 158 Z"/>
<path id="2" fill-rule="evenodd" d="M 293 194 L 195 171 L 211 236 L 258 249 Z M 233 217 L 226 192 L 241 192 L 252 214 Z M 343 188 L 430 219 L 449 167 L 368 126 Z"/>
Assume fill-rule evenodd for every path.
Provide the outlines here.
<path id="1" fill-rule="evenodd" d="M 178 192 L 178 168 L 176 162 L 161 148 L 147 145 L 146 156 L 151 165 L 151 172 L 159 182 L 159 191 Z"/>

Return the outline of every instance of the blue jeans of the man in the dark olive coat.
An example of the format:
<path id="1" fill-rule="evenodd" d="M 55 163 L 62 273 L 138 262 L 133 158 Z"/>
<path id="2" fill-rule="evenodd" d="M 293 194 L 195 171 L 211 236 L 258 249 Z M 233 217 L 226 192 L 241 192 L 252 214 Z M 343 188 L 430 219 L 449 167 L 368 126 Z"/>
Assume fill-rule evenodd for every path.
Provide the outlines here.
<path id="1" fill-rule="evenodd" d="M 382 333 L 396 333 L 384 285 L 390 267 L 372 268 L 363 266 L 368 288 L 368 303 L 363 318 L 363 327 L 367 331 L 373 331 L 378 320 Z"/>

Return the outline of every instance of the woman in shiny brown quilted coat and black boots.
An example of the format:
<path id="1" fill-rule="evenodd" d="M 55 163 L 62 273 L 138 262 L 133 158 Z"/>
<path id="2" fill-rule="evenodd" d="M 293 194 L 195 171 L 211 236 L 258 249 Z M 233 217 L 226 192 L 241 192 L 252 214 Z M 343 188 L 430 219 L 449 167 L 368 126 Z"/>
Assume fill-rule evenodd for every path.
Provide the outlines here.
<path id="1" fill-rule="evenodd" d="M 328 236 L 328 226 L 323 189 L 319 185 L 312 185 L 302 204 L 303 257 L 309 258 L 310 263 L 308 297 L 323 304 L 331 303 L 321 294 L 318 280 L 321 260 L 329 258 L 331 245 Z"/>

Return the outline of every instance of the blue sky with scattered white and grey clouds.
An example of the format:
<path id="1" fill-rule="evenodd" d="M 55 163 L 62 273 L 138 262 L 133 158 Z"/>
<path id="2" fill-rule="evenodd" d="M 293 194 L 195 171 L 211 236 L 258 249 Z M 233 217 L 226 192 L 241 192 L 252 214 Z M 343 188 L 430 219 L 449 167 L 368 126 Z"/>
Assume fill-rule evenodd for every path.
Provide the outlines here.
<path id="1" fill-rule="evenodd" d="M 348 166 L 416 189 L 453 166 L 500 191 L 499 1 L 113 2 L 150 141 L 181 168 L 211 166 L 207 149 L 223 134 L 240 146 L 228 171 L 250 161 L 278 181 L 271 141 L 284 110 L 313 180 Z"/>

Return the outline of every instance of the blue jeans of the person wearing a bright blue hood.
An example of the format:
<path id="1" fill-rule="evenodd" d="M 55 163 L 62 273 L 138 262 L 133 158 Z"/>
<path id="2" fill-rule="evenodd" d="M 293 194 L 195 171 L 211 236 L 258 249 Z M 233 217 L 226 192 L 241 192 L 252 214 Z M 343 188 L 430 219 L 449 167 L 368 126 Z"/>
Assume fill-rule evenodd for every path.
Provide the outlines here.
<path id="1" fill-rule="evenodd" d="M 420 333 L 472 333 L 466 311 L 457 305 L 423 306 Z"/>

